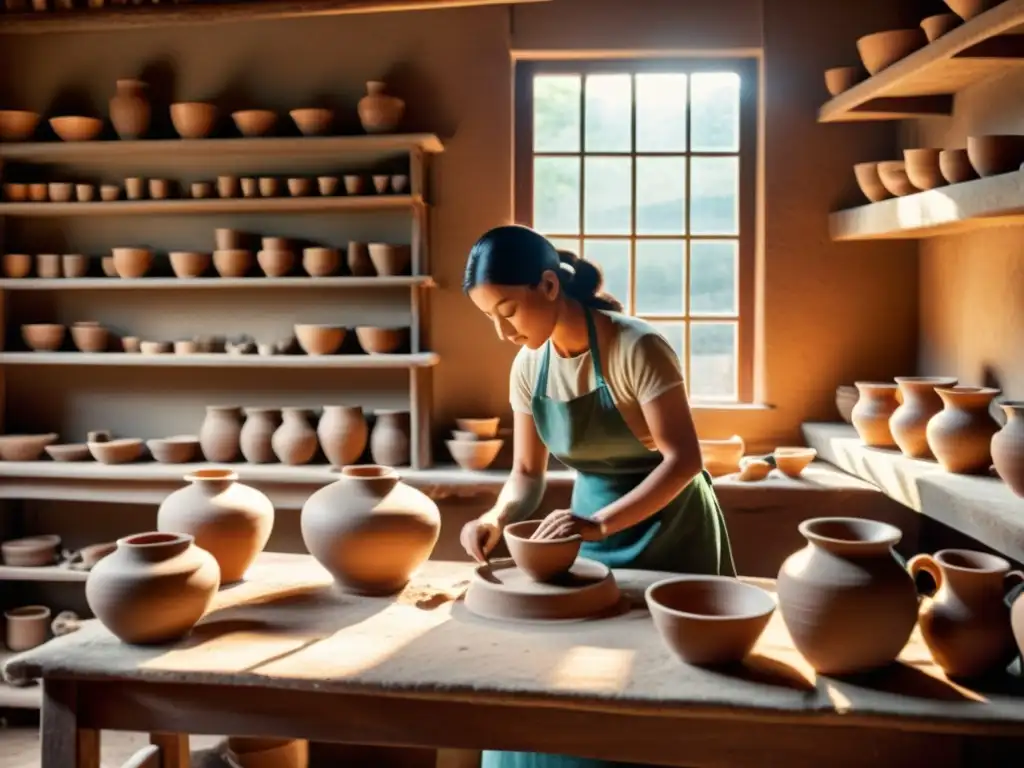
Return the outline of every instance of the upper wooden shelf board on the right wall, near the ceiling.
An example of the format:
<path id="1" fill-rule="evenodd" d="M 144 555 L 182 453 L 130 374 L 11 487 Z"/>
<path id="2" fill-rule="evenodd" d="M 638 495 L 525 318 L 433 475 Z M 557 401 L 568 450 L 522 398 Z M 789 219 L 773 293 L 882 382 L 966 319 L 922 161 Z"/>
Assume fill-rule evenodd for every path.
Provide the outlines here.
<path id="1" fill-rule="evenodd" d="M 1004 0 L 839 94 L 818 111 L 818 122 L 950 115 L 953 94 L 1024 66 L 1022 32 L 1024 0 Z"/>

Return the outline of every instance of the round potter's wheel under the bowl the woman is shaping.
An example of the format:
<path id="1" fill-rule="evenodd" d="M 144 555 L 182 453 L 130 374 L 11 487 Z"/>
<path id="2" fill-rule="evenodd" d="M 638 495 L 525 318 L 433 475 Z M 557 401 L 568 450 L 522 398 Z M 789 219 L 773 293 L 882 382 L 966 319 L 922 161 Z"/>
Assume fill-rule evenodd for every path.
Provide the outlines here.
<path id="1" fill-rule="evenodd" d="M 542 584 L 511 559 L 477 566 L 466 592 L 466 607 L 504 622 L 580 622 L 610 611 L 620 602 L 618 585 L 606 565 L 577 559 L 568 572 Z"/>

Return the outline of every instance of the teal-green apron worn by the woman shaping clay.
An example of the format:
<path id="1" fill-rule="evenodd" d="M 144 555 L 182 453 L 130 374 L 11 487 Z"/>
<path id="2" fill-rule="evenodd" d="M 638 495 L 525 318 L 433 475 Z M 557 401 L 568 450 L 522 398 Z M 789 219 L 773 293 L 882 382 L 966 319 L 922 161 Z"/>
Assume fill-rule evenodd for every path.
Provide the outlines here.
<path id="1" fill-rule="evenodd" d="M 591 517 L 639 485 L 662 462 L 623 419 L 601 372 L 594 318 L 587 333 L 595 389 L 571 400 L 548 397 L 551 342 L 541 360 L 531 408 L 537 431 L 558 461 L 577 471 L 572 512 Z M 584 542 L 580 554 L 612 568 L 735 575 L 725 518 L 701 472 L 665 509 L 600 542 Z M 560 755 L 484 752 L 481 768 L 611 768 L 633 765 Z"/>

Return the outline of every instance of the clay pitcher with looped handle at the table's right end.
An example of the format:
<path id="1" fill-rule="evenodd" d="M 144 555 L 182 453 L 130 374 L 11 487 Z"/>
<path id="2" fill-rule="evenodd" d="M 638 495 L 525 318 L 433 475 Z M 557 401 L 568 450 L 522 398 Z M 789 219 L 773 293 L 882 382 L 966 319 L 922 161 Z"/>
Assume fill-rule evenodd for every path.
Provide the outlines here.
<path id="1" fill-rule="evenodd" d="M 927 572 L 935 582 L 921 604 L 920 625 L 932 658 L 950 677 L 979 677 L 1006 668 L 1017 651 L 1004 598 L 1024 582 L 1001 557 L 966 549 L 918 555 L 910 575 Z"/>

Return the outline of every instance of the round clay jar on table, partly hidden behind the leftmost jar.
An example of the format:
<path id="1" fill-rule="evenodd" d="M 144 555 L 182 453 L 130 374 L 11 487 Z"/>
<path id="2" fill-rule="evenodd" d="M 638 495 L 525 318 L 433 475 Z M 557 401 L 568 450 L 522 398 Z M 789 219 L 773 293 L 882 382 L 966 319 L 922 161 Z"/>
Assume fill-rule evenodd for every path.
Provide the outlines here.
<path id="1" fill-rule="evenodd" d="M 198 470 L 157 511 L 159 530 L 188 534 L 216 558 L 223 584 L 242 579 L 273 529 L 273 504 L 238 479 L 229 469 Z"/>

